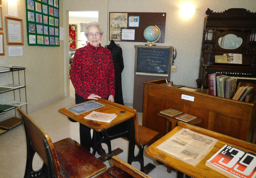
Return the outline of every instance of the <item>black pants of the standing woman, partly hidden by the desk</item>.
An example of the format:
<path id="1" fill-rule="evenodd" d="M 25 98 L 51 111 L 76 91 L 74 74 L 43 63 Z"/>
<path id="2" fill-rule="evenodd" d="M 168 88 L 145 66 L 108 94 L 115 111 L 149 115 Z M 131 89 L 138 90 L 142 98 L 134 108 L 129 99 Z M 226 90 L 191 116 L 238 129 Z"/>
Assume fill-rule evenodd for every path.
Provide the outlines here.
<path id="1" fill-rule="evenodd" d="M 76 104 L 82 103 L 82 102 L 86 102 L 89 101 L 90 99 L 84 99 L 83 97 L 81 97 L 80 95 L 78 95 L 77 93 L 75 93 L 75 101 Z M 108 99 L 105 98 L 105 99 Z M 72 122 L 76 122 L 73 119 L 69 118 L 68 119 Z M 91 138 L 91 128 L 86 127 L 85 125 L 79 123 L 79 133 L 80 133 L 80 145 L 82 145 L 84 148 L 86 148 L 88 151 L 90 151 L 91 147 L 93 146 L 94 142 L 94 134 L 92 135 Z M 102 136 L 101 136 L 102 137 Z M 102 148 L 101 144 L 98 144 L 98 149 Z"/>

